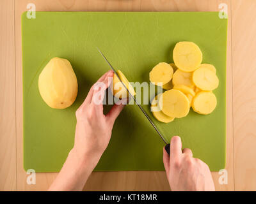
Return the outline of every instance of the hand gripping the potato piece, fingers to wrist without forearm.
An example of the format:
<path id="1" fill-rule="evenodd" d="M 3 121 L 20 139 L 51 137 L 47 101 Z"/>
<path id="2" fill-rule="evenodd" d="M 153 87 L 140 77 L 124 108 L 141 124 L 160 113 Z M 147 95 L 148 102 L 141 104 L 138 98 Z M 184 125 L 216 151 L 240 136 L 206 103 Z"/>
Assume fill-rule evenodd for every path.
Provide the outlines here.
<path id="1" fill-rule="evenodd" d="M 95 157 L 97 160 L 100 159 L 100 156 L 108 147 L 115 119 L 124 108 L 122 104 L 115 104 L 107 115 L 103 113 L 104 91 L 111 84 L 111 80 L 108 78 L 113 77 L 113 75 L 113 71 L 108 71 L 100 77 L 88 92 L 83 104 L 76 111 L 77 124 L 74 151 L 81 156 L 81 159 L 85 155 Z M 104 88 L 101 86 L 98 89 L 97 84 L 99 83 L 103 84 Z M 100 91 L 102 99 L 100 103 L 95 103 L 95 97 L 100 95 Z"/>

